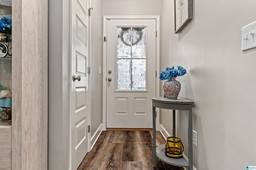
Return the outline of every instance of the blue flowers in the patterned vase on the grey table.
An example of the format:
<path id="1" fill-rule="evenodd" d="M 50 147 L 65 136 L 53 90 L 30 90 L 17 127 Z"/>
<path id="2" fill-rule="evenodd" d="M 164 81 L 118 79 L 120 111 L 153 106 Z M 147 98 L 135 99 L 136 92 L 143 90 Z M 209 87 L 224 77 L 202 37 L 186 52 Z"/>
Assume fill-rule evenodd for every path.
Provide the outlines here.
<path id="1" fill-rule="evenodd" d="M 177 66 L 177 68 L 166 67 L 164 71 L 159 73 L 160 80 L 170 80 L 172 77 L 183 76 L 187 73 L 187 70 L 182 66 Z"/>

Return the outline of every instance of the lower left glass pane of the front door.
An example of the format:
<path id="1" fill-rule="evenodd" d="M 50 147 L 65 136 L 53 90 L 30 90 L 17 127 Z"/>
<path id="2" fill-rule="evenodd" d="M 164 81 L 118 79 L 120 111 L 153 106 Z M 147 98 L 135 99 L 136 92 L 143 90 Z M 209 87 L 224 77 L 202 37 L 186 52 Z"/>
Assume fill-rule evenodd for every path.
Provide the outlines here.
<path id="1" fill-rule="evenodd" d="M 131 64 L 129 59 L 117 60 L 117 90 L 130 90 L 130 68 Z"/>

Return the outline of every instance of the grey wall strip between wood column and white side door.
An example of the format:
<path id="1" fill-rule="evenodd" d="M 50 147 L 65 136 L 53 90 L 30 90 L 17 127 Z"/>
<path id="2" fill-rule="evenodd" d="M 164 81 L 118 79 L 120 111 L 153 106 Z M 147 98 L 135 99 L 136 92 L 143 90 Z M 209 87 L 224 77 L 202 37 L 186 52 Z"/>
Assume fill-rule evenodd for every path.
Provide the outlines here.
<path id="1" fill-rule="evenodd" d="M 48 4 L 48 170 L 69 168 L 69 0 Z"/>

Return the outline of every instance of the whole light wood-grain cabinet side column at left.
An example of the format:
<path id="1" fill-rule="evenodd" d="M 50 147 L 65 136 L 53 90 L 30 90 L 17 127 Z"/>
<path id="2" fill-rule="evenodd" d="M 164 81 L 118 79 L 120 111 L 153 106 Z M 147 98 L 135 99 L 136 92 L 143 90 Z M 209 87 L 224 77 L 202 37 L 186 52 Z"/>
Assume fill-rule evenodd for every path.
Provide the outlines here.
<path id="1" fill-rule="evenodd" d="M 12 170 L 46 170 L 48 0 L 12 0 L 12 91 Z"/>

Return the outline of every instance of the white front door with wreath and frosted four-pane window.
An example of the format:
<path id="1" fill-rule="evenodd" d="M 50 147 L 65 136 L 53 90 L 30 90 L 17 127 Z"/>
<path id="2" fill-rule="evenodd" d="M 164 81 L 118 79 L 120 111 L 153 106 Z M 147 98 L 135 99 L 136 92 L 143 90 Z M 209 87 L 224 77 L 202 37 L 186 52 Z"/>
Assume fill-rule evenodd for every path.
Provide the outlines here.
<path id="1" fill-rule="evenodd" d="M 107 20 L 106 128 L 152 128 L 156 20 Z"/>

